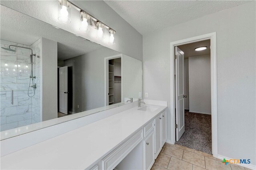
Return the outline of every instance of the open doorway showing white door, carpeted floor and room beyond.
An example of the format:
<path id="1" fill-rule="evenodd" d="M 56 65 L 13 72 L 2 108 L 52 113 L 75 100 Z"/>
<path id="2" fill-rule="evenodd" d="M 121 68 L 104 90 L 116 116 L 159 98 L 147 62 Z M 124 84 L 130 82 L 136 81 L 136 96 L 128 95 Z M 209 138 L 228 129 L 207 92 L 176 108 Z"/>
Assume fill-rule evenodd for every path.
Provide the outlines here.
<path id="1" fill-rule="evenodd" d="M 212 154 L 210 39 L 175 54 L 176 144 Z"/>

